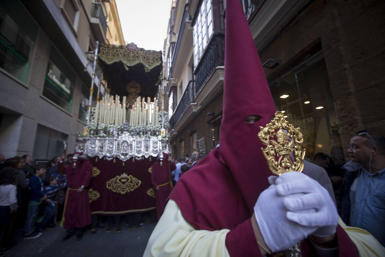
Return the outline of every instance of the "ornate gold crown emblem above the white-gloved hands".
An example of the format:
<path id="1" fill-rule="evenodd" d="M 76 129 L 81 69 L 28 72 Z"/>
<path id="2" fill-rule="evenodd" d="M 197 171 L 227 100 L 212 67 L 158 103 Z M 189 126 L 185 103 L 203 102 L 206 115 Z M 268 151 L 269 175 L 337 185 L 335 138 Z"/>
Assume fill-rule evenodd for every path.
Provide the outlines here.
<path id="1" fill-rule="evenodd" d="M 290 171 L 301 172 L 305 149 L 302 148 L 300 128 L 288 123 L 280 111 L 275 113 L 274 119 L 266 127 L 260 128 L 258 137 L 266 146 L 261 150 L 271 172 L 278 176 Z"/>

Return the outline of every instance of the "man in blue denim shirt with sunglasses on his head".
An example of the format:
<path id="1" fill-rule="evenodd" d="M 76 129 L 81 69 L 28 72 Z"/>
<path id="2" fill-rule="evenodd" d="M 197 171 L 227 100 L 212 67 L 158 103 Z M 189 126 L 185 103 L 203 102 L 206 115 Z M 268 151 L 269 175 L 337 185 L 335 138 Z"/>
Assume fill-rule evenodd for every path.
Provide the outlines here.
<path id="1" fill-rule="evenodd" d="M 346 225 L 370 232 L 385 246 L 385 138 L 366 130 L 350 139 L 351 161 L 336 192 L 338 211 Z"/>

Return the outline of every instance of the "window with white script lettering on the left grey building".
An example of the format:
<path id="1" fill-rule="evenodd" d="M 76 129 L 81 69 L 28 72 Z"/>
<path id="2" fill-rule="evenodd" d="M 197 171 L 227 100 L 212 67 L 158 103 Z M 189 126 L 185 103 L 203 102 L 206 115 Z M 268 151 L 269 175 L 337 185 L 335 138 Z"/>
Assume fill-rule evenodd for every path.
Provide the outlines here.
<path id="1" fill-rule="evenodd" d="M 65 111 L 72 113 L 72 96 L 75 82 L 75 72 L 52 45 L 45 74 L 43 96 Z"/>

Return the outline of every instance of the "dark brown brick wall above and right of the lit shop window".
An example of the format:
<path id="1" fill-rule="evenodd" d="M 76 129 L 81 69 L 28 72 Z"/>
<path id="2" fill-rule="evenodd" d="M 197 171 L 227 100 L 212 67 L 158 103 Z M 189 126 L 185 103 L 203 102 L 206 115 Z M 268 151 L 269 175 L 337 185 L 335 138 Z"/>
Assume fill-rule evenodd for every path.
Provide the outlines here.
<path id="1" fill-rule="evenodd" d="M 343 148 L 359 129 L 385 135 L 385 1 L 316 0 L 261 54 L 281 60 L 273 79 L 320 47 L 325 56 Z"/>

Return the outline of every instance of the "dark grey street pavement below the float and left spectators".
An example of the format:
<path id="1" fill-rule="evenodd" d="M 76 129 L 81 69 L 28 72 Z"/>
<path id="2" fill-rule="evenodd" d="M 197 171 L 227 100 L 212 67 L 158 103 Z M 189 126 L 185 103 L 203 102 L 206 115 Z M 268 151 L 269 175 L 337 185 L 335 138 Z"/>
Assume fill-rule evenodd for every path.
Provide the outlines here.
<path id="1" fill-rule="evenodd" d="M 59 223 L 59 222 L 58 222 Z M 49 228 L 37 239 L 16 239 L 18 245 L 12 247 L 7 257 L 139 257 L 144 253 L 147 241 L 156 223 L 144 222 L 142 229 L 127 230 L 125 220 L 121 221 L 121 233 L 112 230 L 106 233 L 106 226 L 96 233 L 87 230 L 83 239 L 76 236 L 62 241 L 66 235 L 64 228 Z M 3 257 L 4 255 L 2 255 Z"/>

